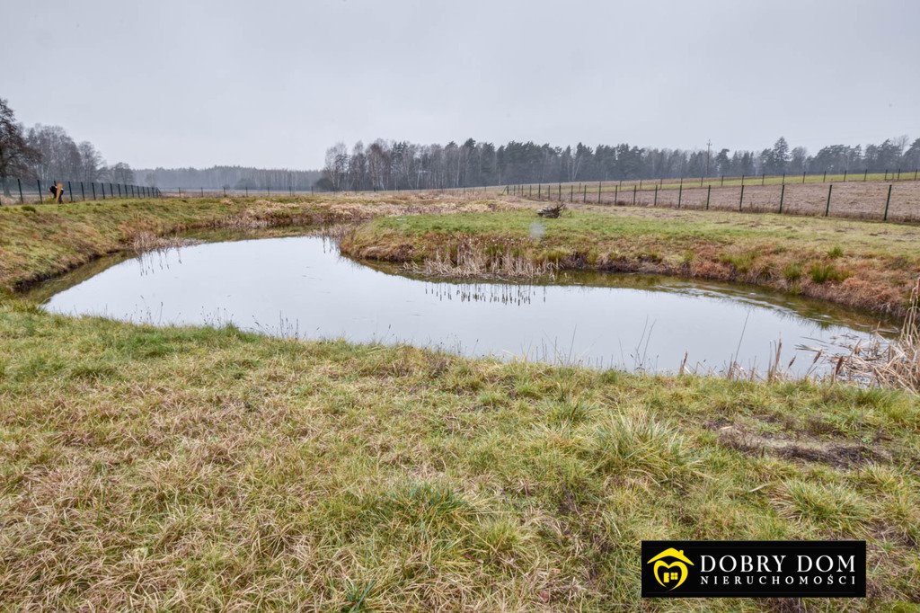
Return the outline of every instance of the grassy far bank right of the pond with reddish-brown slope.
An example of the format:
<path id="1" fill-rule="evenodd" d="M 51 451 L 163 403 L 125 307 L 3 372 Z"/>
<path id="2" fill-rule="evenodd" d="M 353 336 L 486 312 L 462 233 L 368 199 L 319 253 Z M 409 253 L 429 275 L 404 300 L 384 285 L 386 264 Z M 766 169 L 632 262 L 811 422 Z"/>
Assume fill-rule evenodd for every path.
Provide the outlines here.
<path id="1" fill-rule="evenodd" d="M 511 259 L 755 283 L 903 316 L 920 274 L 918 245 L 916 226 L 580 206 L 550 220 L 532 211 L 378 218 L 341 248 L 365 259 L 482 261 L 483 272 Z"/>

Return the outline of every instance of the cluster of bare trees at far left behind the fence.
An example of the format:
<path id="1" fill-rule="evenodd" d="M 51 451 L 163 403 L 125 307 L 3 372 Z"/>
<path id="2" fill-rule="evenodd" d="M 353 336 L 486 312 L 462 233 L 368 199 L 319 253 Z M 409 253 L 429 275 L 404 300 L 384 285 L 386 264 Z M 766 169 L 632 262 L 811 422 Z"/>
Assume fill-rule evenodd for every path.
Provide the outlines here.
<path id="1" fill-rule="evenodd" d="M 9 196 L 9 179 L 99 181 L 133 184 L 132 168 L 124 163 L 107 165 L 89 141 L 75 143 L 61 126 L 36 125 L 26 128 L 16 113 L 0 98 L 0 182 Z"/>

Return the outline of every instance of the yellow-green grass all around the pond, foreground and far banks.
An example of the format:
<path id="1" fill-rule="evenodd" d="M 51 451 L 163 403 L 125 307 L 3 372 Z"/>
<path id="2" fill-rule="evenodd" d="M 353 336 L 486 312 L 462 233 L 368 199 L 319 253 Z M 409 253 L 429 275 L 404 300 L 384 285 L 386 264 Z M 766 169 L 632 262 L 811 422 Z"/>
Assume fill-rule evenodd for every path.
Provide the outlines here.
<path id="1" fill-rule="evenodd" d="M 188 204 L 94 206 L 79 226 L 69 210 L 5 210 L 0 255 L 17 263 L 4 284 L 151 230 L 386 214 L 352 245 L 398 239 L 420 257 L 438 233 L 529 249 L 535 220 L 407 216 L 501 202 Z M 626 233 L 645 249 L 654 238 L 663 261 L 663 246 L 686 241 L 746 253 L 752 237 L 806 249 L 811 236 L 841 270 L 857 251 L 836 254 L 838 230 L 866 265 L 909 259 L 916 244 L 907 226 L 673 213 L 578 212 L 546 222 L 546 240 L 568 230 L 572 244 L 608 245 Z M 784 226 L 798 222 L 816 226 Z M 920 402 L 893 390 L 157 329 L 0 295 L 0 608 L 788 610 L 797 603 L 641 603 L 638 543 L 865 538 L 869 599 L 807 606 L 910 610 L 918 431 Z"/>

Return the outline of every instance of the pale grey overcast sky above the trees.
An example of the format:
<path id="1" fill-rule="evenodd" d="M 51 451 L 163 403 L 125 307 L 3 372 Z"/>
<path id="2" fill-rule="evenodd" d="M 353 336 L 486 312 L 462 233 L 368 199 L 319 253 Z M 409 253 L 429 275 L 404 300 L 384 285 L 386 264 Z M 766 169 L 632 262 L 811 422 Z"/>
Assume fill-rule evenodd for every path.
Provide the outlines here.
<path id="1" fill-rule="evenodd" d="M 920 137 L 920 2 L 6 0 L 0 97 L 109 162 L 328 145 Z"/>

